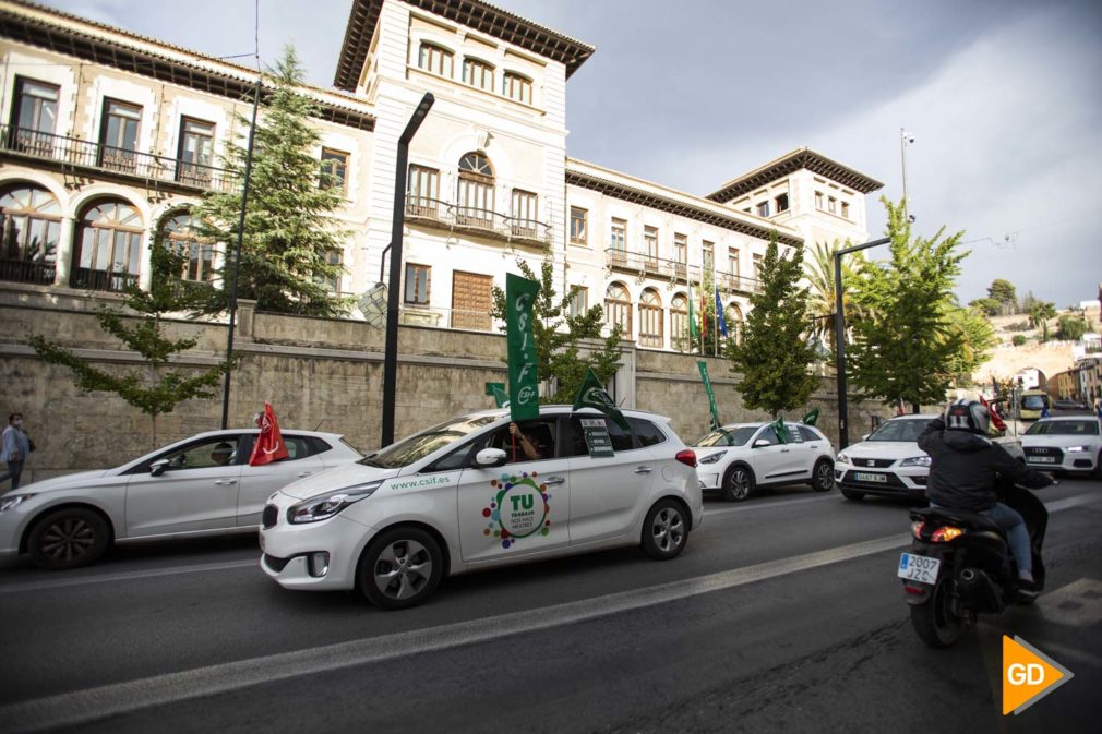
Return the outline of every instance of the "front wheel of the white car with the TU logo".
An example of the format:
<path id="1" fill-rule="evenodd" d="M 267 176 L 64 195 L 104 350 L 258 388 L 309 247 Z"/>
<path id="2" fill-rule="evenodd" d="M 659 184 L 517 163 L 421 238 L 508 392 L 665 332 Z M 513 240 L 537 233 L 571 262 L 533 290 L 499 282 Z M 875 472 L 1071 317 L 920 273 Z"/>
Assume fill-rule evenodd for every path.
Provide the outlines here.
<path id="1" fill-rule="evenodd" d="M 400 526 L 379 533 L 360 555 L 359 592 L 380 609 L 424 603 L 444 576 L 444 554 L 430 533 Z"/>

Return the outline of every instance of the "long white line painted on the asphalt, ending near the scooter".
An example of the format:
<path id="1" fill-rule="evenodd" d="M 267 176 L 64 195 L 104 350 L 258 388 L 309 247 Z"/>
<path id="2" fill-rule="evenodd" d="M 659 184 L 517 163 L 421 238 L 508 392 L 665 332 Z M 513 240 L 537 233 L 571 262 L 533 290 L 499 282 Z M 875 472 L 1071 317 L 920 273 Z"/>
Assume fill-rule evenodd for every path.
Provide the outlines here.
<path id="1" fill-rule="evenodd" d="M 880 553 L 900 548 L 908 542 L 910 542 L 909 533 L 894 535 L 758 563 L 744 569 L 557 604 L 540 609 L 539 615 L 534 615 L 530 611 L 503 614 L 484 619 L 472 619 L 383 637 L 326 645 L 62 693 L 0 706 L 0 721 L 8 722 L 6 731 L 9 734 L 76 726 L 150 706 L 215 695 L 261 683 L 377 663 L 464 645 L 500 641 L 503 637 L 508 635 L 538 632 L 733 589 Z"/>

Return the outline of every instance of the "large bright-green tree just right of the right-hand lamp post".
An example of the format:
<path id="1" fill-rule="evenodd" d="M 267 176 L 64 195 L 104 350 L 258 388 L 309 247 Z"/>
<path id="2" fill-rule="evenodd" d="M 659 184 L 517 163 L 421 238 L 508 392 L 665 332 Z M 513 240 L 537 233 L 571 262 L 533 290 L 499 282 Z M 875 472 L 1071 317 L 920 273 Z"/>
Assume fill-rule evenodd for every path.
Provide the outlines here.
<path id="1" fill-rule="evenodd" d="M 912 238 L 903 204 L 880 202 L 892 257 L 862 263 L 854 300 L 868 315 L 853 322 L 849 369 L 865 397 L 907 402 L 918 412 L 922 403 L 941 402 L 952 381 L 955 346 L 944 338 L 947 313 L 968 253 L 958 251 L 963 233 L 944 237 L 942 227 L 929 239 Z"/>

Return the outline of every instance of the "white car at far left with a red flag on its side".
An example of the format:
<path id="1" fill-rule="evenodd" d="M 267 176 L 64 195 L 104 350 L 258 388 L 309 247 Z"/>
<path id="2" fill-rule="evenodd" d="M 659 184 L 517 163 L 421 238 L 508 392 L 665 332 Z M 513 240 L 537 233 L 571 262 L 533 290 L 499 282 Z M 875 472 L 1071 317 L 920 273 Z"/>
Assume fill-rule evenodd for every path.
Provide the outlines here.
<path id="1" fill-rule="evenodd" d="M 333 433 L 282 431 L 290 456 L 249 466 L 259 429 L 208 431 L 141 458 L 0 495 L 0 558 L 95 562 L 112 542 L 256 531 L 268 496 L 363 454 Z"/>

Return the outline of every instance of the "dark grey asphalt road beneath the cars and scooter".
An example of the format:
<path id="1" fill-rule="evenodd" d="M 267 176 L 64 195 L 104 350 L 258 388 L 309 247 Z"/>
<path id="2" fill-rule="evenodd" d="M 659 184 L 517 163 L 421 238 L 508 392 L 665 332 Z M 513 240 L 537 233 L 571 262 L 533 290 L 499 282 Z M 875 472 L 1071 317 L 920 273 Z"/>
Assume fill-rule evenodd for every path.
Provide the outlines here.
<path id="1" fill-rule="evenodd" d="M 0 572 L 0 731 L 1093 732 L 1102 483 L 1046 489 L 1046 595 L 950 650 L 895 579 L 905 505 L 706 501 L 667 563 L 635 549 L 449 580 L 397 613 L 284 591 L 256 539 Z M 1001 715 L 1002 635 L 1074 678 Z"/>

